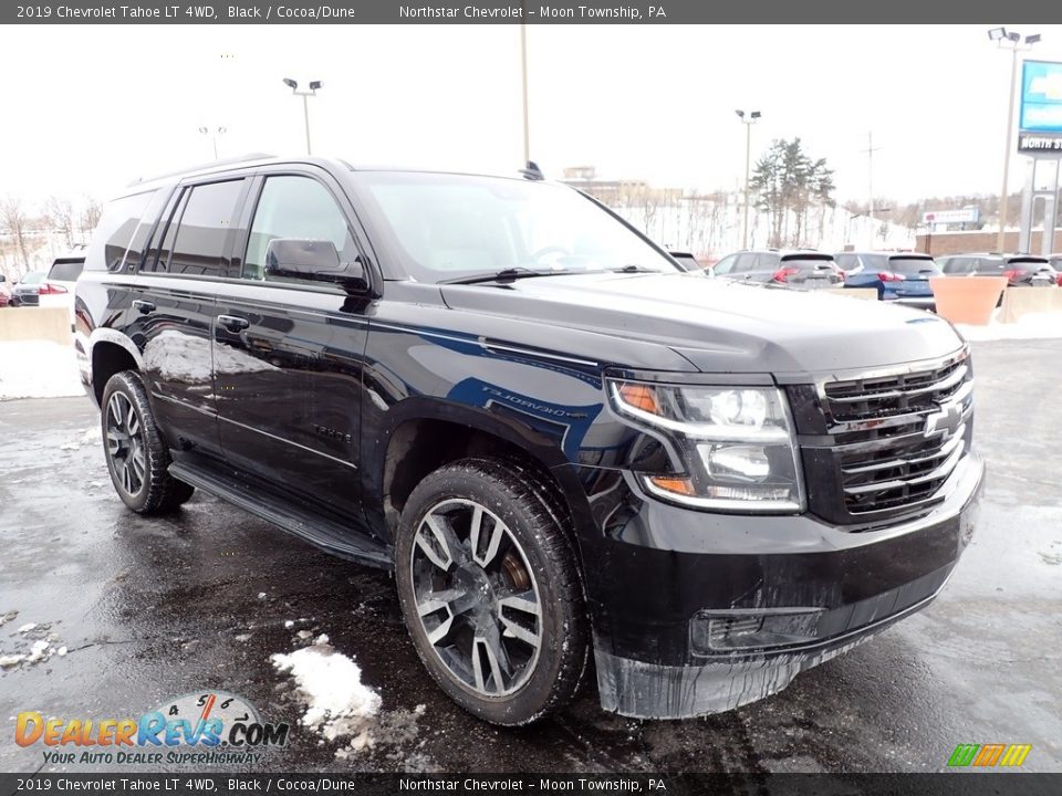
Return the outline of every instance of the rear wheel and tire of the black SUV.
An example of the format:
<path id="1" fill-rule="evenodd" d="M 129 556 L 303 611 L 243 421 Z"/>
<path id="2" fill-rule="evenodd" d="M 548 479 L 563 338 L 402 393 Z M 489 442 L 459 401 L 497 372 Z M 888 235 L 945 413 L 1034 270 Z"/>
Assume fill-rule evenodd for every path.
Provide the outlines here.
<path id="1" fill-rule="evenodd" d="M 195 492 L 169 474 L 169 449 L 159 433 L 139 374 L 123 370 L 103 390 L 100 423 L 114 490 L 137 514 L 165 514 Z"/>

